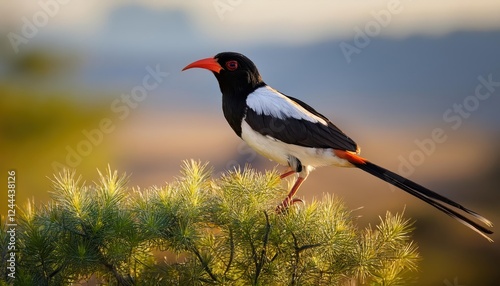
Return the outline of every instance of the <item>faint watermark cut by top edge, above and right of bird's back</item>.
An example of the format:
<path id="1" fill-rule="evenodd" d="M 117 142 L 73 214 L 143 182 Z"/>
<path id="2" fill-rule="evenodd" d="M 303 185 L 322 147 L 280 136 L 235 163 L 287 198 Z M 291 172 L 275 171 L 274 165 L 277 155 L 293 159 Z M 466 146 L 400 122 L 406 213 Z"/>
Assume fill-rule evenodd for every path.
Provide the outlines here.
<path id="1" fill-rule="evenodd" d="M 345 41 L 339 44 L 339 48 L 344 55 L 347 63 L 351 63 L 354 54 L 359 55 L 363 49 L 371 43 L 371 38 L 380 35 L 382 28 L 386 28 L 391 24 L 394 15 L 398 15 L 403 11 L 404 7 L 400 0 L 389 0 L 386 8 L 379 11 L 371 11 L 371 20 L 365 23 L 363 29 L 354 27 L 354 37 L 352 44 Z"/>

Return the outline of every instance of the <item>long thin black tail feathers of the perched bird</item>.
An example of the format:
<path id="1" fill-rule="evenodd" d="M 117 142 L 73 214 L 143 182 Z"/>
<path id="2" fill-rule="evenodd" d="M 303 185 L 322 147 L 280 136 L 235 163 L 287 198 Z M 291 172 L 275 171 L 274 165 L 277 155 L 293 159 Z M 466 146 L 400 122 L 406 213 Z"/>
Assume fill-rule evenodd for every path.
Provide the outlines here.
<path id="1" fill-rule="evenodd" d="M 478 213 L 469 210 L 468 208 L 438 194 L 435 193 L 411 180 L 408 180 L 404 177 L 401 177 L 400 175 L 391 172 L 387 169 L 384 169 L 380 166 L 377 166 L 369 161 L 365 161 L 364 163 L 353 163 L 354 166 L 357 168 L 370 173 L 374 175 L 377 178 L 380 178 L 400 189 L 403 191 L 423 200 L 424 202 L 430 204 L 431 206 L 437 208 L 438 210 L 444 212 L 445 214 L 451 216 L 452 218 L 458 220 L 460 223 L 466 225 L 470 229 L 474 230 L 475 232 L 479 233 L 482 235 L 484 238 L 486 238 L 488 241 L 493 242 L 491 238 L 486 236 L 486 234 L 492 234 L 493 231 L 490 229 L 479 225 L 478 223 L 472 221 L 471 219 L 463 216 L 462 214 L 459 214 L 455 210 L 450 209 L 448 206 L 445 206 L 444 204 L 447 204 L 449 206 L 455 207 L 457 209 L 460 209 L 471 216 L 475 217 L 479 221 L 483 222 L 485 225 L 489 227 L 493 227 L 493 224 L 491 221 L 488 219 L 484 218 L 483 216 L 479 215 Z"/>

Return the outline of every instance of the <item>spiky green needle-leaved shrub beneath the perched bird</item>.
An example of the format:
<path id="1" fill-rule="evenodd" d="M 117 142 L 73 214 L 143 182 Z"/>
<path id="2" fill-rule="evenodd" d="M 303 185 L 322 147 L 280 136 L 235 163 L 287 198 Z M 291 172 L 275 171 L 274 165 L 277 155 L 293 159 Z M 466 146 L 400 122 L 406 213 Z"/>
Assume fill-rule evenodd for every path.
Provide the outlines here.
<path id="1" fill-rule="evenodd" d="M 22 211 L 16 279 L 2 269 L 2 282 L 401 285 L 416 270 L 411 223 L 401 215 L 387 213 L 375 228 L 359 230 L 329 195 L 277 213 L 286 190 L 274 171 L 212 179 L 206 164 L 191 161 L 175 182 L 147 190 L 128 189 L 109 168 L 99 175 L 87 185 L 65 171 L 53 180 L 50 203 Z"/>

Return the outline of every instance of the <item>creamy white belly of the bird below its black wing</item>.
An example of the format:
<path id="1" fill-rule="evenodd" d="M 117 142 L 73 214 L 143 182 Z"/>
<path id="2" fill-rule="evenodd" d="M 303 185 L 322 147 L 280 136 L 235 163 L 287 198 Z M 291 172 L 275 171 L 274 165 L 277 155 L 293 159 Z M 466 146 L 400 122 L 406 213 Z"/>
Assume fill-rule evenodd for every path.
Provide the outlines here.
<path id="1" fill-rule="evenodd" d="M 282 165 L 287 165 L 289 156 L 294 156 L 305 166 L 352 167 L 347 160 L 335 156 L 331 148 L 310 148 L 287 144 L 254 131 L 245 120 L 241 124 L 241 138 L 257 153 Z"/>

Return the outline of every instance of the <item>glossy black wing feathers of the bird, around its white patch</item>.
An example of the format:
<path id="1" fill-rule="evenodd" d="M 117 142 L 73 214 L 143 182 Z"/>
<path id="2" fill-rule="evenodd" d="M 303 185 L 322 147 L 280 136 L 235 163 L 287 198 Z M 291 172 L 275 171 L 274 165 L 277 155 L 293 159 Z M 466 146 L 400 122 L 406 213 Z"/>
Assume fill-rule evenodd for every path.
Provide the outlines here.
<path id="1" fill-rule="evenodd" d="M 288 144 L 357 151 L 356 143 L 331 123 L 328 118 L 301 100 L 282 95 L 312 113 L 312 119 L 316 116 L 320 120 L 313 122 L 314 120 L 297 119 L 289 116 L 280 118 L 257 112 L 251 106 L 247 108 L 244 120 L 260 134 L 271 136 Z"/>

